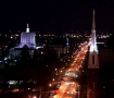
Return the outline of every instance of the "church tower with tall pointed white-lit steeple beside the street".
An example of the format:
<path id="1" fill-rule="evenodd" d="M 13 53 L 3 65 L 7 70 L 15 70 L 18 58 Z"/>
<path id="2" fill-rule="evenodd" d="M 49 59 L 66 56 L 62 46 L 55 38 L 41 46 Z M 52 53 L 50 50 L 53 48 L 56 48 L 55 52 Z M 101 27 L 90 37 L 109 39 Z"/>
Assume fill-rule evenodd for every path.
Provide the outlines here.
<path id="1" fill-rule="evenodd" d="M 87 77 L 87 98 L 96 98 L 97 96 L 99 96 L 99 59 L 96 39 L 94 10 L 92 19 L 91 44 L 89 50 Z"/>

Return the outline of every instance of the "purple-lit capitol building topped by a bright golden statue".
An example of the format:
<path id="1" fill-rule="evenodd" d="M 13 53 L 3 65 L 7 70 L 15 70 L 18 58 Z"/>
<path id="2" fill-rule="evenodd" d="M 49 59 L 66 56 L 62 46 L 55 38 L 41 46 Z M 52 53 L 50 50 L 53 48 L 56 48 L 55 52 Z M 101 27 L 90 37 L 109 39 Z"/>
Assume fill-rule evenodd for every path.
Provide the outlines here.
<path id="1" fill-rule="evenodd" d="M 26 32 L 22 32 L 21 34 L 21 44 L 14 48 L 11 48 L 9 51 L 10 59 L 14 59 L 15 57 L 20 56 L 24 46 L 28 47 L 29 54 L 34 54 L 34 50 L 42 47 L 36 47 L 36 35 L 35 33 L 29 32 L 29 26 L 27 24 Z"/>

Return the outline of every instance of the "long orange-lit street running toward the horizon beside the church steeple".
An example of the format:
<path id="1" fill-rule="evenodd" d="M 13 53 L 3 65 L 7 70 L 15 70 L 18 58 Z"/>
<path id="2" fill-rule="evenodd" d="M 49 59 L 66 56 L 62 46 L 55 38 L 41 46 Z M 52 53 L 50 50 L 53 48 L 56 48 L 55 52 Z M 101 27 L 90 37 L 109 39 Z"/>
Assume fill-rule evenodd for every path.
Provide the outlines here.
<path id="1" fill-rule="evenodd" d="M 76 95 L 79 98 L 81 85 L 76 82 L 76 78 L 84 72 L 81 69 L 87 51 L 88 42 L 84 42 L 81 44 L 80 51 L 78 51 L 77 54 L 73 54 L 73 63 L 71 63 L 69 69 L 66 70 L 61 86 L 58 89 L 56 95 L 52 98 L 75 98 Z"/>

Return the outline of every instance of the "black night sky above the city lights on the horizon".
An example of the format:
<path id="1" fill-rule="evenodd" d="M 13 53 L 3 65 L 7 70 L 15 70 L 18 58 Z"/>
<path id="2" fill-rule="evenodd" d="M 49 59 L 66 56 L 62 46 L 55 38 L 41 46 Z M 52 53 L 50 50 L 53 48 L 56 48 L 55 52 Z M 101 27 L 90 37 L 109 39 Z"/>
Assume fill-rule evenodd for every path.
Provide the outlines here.
<path id="1" fill-rule="evenodd" d="M 96 9 L 97 29 L 113 30 L 114 0 L 0 0 L 0 30 L 53 33 L 91 30 Z"/>

